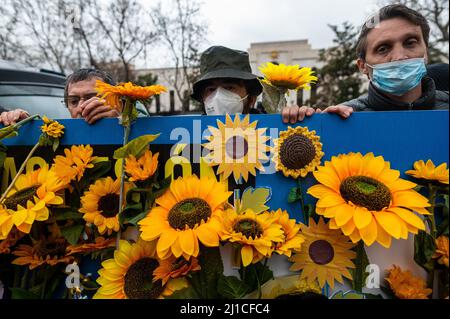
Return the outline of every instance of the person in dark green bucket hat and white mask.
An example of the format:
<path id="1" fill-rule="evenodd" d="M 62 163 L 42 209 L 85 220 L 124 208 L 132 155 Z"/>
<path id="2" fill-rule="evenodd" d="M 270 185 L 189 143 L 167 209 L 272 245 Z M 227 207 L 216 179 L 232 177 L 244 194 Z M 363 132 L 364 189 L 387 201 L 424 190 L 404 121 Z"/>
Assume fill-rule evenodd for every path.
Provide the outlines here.
<path id="1" fill-rule="evenodd" d="M 213 46 L 201 56 L 200 78 L 194 83 L 192 98 L 203 104 L 207 115 L 261 114 L 264 110 L 255 106 L 262 90 L 247 52 Z M 304 108 L 303 116 L 314 114 L 314 109 Z"/>

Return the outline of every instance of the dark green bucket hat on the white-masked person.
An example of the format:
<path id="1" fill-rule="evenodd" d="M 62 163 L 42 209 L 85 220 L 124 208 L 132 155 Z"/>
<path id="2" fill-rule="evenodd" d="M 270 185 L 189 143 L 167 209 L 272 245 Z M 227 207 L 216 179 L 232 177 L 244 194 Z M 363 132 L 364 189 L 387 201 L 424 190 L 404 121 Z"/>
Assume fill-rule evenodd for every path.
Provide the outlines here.
<path id="1" fill-rule="evenodd" d="M 252 95 L 262 93 L 263 88 L 258 76 L 252 74 L 247 52 L 213 46 L 203 52 L 200 58 L 200 78 L 193 85 L 191 97 L 201 102 L 202 85 L 211 79 L 224 78 L 244 80 Z"/>

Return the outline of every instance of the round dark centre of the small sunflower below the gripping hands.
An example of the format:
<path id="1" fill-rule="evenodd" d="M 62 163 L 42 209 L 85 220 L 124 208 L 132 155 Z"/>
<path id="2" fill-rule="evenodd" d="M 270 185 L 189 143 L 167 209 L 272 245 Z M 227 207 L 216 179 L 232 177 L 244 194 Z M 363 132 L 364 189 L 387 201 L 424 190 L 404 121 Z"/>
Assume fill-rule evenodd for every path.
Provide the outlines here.
<path id="1" fill-rule="evenodd" d="M 316 157 L 314 144 L 306 136 L 288 137 L 280 148 L 280 161 L 288 169 L 302 169 Z"/>

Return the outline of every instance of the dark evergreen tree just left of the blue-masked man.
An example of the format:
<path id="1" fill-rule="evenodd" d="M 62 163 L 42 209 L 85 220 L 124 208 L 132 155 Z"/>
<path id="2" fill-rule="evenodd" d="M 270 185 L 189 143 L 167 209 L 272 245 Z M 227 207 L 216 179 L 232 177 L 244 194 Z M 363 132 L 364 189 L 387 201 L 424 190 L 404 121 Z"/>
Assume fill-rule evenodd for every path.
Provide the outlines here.
<path id="1" fill-rule="evenodd" d="M 359 97 L 363 93 L 364 80 L 356 65 L 358 31 L 349 22 L 342 27 L 329 25 L 335 34 L 334 45 L 322 49 L 318 70 L 317 106 L 336 105 Z"/>

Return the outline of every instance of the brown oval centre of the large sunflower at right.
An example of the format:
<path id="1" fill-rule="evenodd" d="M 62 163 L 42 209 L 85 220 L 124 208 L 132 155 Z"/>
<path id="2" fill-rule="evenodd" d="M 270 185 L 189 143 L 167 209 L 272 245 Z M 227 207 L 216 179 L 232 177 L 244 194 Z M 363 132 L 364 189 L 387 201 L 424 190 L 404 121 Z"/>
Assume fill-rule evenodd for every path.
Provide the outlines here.
<path id="1" fill-rule="evenodd" d="M 371 211 L 380 211 L 391 204 L 389 188 L 367 176 L 352 176 L 342 182 L 341 195 L 347 202 Z"/>

